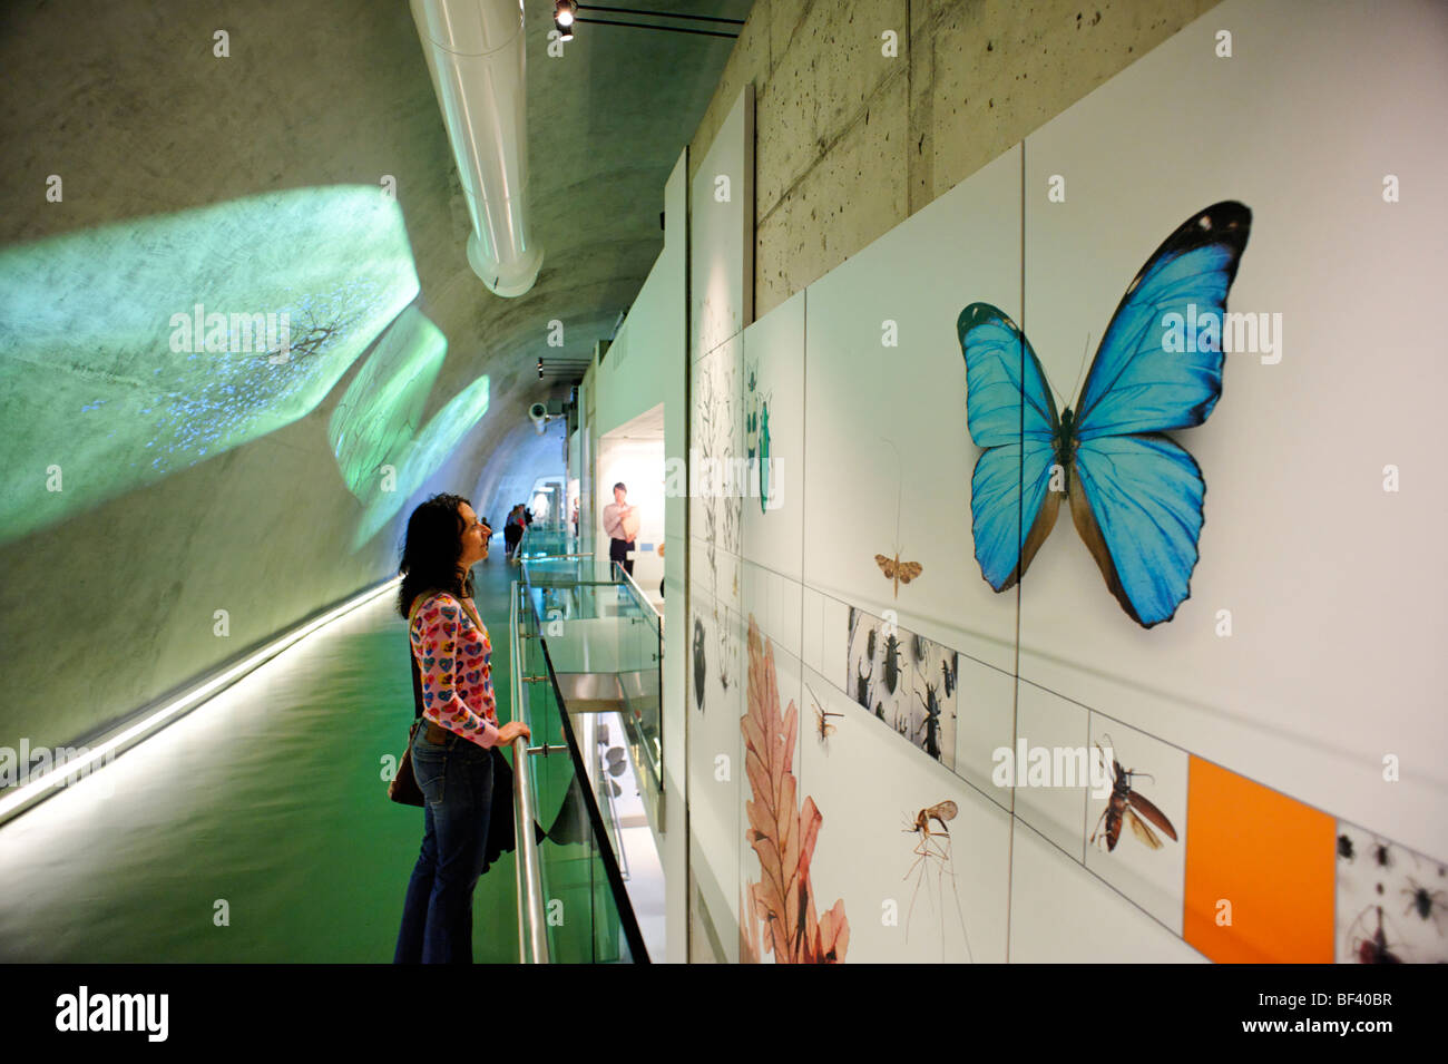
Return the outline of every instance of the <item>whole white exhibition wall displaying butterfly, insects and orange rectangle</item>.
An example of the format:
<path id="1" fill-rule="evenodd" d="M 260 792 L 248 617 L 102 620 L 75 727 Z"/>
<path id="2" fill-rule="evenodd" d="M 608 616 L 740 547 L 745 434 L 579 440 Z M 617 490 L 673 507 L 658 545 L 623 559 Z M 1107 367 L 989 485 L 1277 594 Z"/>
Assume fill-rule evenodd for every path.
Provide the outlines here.
<path id="1" fill-rule="evenodd" d="M 780 954 L 734 776 L 743 958 L 1442 958 L 1445 45 L 1226 0 L 695 352 L 695 446 L 804 469 L 692 504 L 695 709 L 808 843 Z"/>

